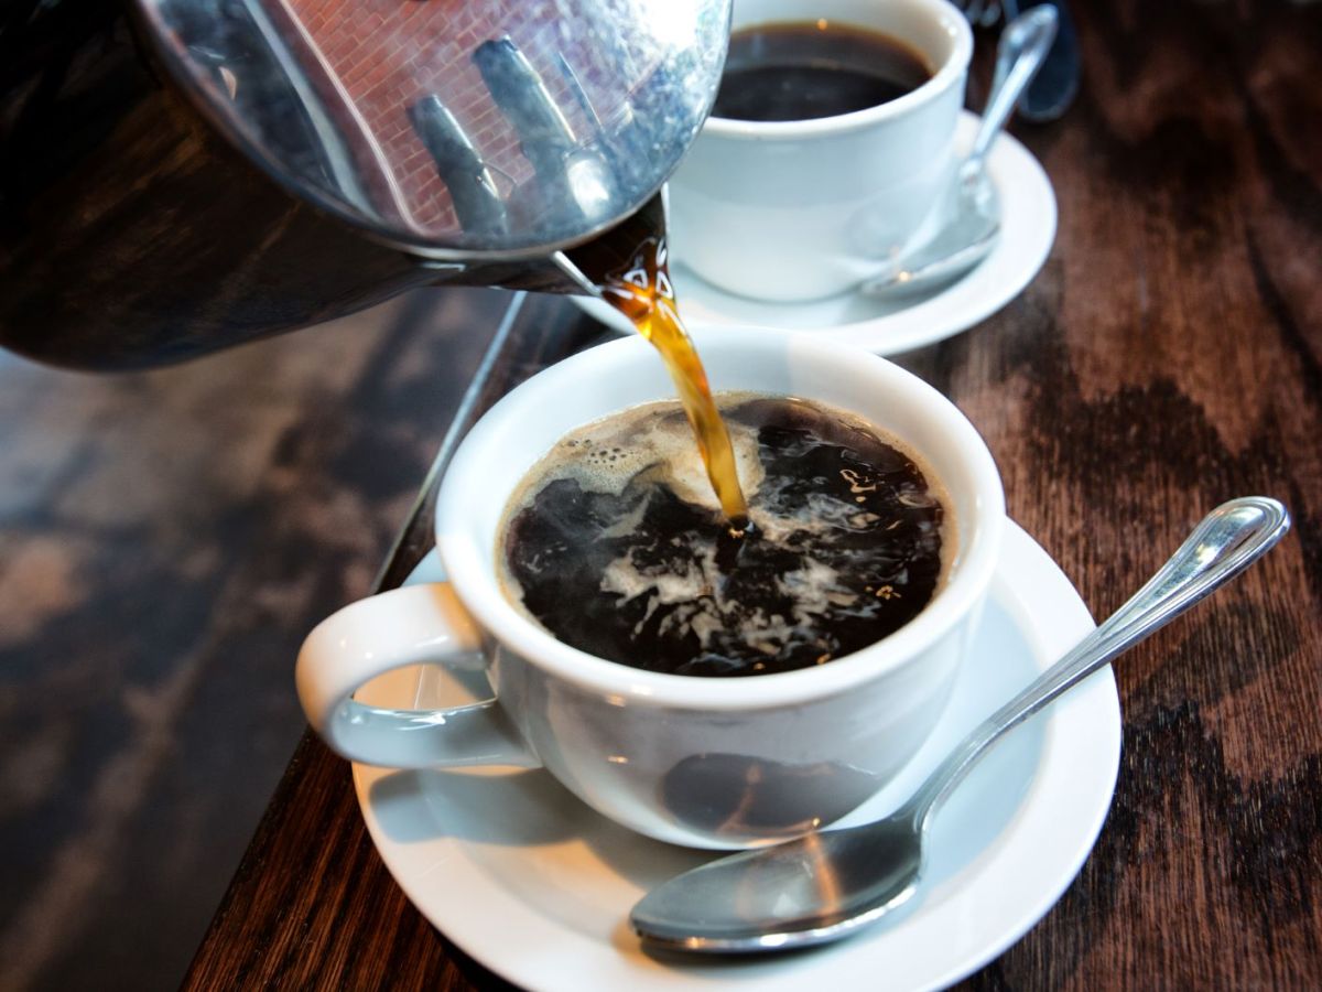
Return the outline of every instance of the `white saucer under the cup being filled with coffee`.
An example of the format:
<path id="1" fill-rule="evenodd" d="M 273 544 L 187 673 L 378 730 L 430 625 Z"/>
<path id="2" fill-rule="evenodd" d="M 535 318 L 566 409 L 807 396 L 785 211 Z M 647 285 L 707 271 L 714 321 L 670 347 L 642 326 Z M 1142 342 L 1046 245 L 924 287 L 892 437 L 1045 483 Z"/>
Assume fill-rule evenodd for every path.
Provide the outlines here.
<path id="1" fill-rule="evenodd" d="M 435 565 L 419 571 L 436 577 Z M 949 710 L 902 779 L 850 819 L 898 806 L 958 737 L 1091 627 L 1069 581 L 1011 524 Z M 369 704 L 387 706 L 472 698 L 436 668 L 402 669 L 369 689 Z M 710 852 L 616 827 L 545 771 L 356 765 L 353 775 L 368 829 L 408 898 L 457 947 L 513 983 L 578 992 L 724 980 L 798 992 L 809 981 L 873 988 L 882 975 L 890 989 L 935 988 L 997 958 L 1079 872 L 1110 806 L 1118 761 L 1120 701 L 1104 669 L 1007 737 L 937 812 L 912 913 L 838 944 L 756 960 L 644 954 L 625 922 L 631 906 Z"/>

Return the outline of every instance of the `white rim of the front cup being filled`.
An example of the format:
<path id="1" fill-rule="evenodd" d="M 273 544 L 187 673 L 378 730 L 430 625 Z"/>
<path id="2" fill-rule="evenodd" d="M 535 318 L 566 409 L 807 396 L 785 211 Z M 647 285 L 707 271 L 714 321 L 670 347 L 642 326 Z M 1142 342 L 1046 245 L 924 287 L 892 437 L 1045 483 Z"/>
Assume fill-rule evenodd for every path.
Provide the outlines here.
<path id="1" fill-rule="evenodd" d="M 554 409 L 566 390 L 582 390 L 584 382 L 600 382 L 603 373 L 608 376 L 612 369 L 639 361 L 661 365 L 652 345 L 641 337 L 627 337 L 571 356 L 508 393 L 469 431 L 444 475 L 435 512 L 438 549 L 456 594 L 489 636 L 561 679 L 598 693 L 619 696 L 620 705 L 629 701 L 695 710 L 738 710 L 793 705 L 846 692 L 902 668 L 968 616 L 990 586 L 1005 521 L 1001 476 L 982 436 L 939 390 L 900 366 L 857 348 L 767 328 L 723 328 L 720 337 L 703 343 L 702 354 L 710 364 L 709 356 L 718 349 L 758 347 L 759 341 L 764 345 L 767 340 L 776 340 L 779 349 L 788 349 L 792 354 L 798 352 L 796 360 L 813 361 L 818 368 L 839 376 L 857 374 L 861 362 L 874 364 L 869 374 L 876 388 L 886 389 L 896 403 L 920 405 L 923 419 L 961 450 L 962 468 L 972 483 L 969 507 L 976 520 L 965 518 L 968 509 L 957 516 L 960 548 L 956 561 L 944 585 L 921 612 L 880 640 L 814 668 L 747 677 L 706 677 L 649 672 L 590 655 L 557 640 L 517 608 L 505 597 L 497 575 L 500 549 L 494 542 L 500 534 L 477 533 L 483 528 L 472 520 L 475 513 L 490 511 L 490 497 L 481 485 L 481 464 L 492 458 L 493 451 L 502 450 L 508 439 L 520 436 L 520 425 L 526 423 L 530 413 Z M 584 374 L 584 366 L 596 368 L 592 374 Z M 669 398 L 673 395 L 640 395 L 632 405 Z M 805 394 L 805 398 L 816 397 Z M 843 407 L 830 399 L 822 402 Z M 605 410 L 598 419 L 629 406 Z M 866 415 L 863 418 L 867 419 Z M 575 426 L 580 425 L 570 425 L 559 435 Z M 906 439 L 906 443 L 911 442 Z M 520 476 L 526 475 L 545 454 L 538 451 L 530 460 L 521 459 Z M 941 483 L 948 489 L 953 488 L 948 477 L 943 477 Z M 500 493 L 501 518 L 510 495 L 509 489 Z M 953 503 L 957 497 L 952 495 L 951 500 Z"/>

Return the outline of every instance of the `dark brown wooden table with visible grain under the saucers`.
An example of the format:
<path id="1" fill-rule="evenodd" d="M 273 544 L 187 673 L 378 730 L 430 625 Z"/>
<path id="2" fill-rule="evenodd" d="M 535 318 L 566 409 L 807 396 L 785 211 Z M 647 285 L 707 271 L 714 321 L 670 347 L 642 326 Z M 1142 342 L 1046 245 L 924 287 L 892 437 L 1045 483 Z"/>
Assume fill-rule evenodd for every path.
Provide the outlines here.
<path id="1" fill-rule="evenodd" d="M 1076 20 L 1077 103 L 1015 128 L 1059 198 L 1046 269 L 902 361 L 984 431 L 1011 516 L 1095 615 L 1224 499 L 1277 496 L 1294 530 L 1118 667 L 1101 837 L 966 984 L 1322 988 L 1322 5 L 1099 0 Z M 598 337 L 567 302 L 527 298 L 467 413 Z M 501 983 L 407 902 L 348 766 L 305 737 L 185 984 Z"/>

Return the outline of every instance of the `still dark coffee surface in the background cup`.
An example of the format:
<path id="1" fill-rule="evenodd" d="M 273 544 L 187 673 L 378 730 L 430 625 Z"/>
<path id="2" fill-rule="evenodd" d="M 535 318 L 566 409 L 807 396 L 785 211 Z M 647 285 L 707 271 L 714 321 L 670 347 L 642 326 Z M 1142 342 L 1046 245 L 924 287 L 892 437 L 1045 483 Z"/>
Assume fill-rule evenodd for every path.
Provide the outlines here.
<path id="1" fill-rule="evenodd" d="M 903 97 L 931 78 L 916 52 L 878 32 L 829 21 L 763 24 L 731 34 L 711 112 L 736 120 L 829 118 Z"/>

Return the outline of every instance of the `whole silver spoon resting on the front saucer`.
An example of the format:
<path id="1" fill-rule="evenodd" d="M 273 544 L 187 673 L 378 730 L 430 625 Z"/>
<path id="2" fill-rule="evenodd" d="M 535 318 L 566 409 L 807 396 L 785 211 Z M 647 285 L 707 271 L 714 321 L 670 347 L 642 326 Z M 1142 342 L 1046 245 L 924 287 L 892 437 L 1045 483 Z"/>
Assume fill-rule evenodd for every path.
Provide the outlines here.
<path id="1" fill-rule="evenodd" d="M 1237 575 L 1289 525 L 1265 496 L 1212 511 L 1147 585 L 978 725 L 894 813 L 677 876 L 633 907 L 633 929 L 658 947 L 746 954 L 837 940 L 880 919 L 917 886 L 932 809 L 1002 734 Z"/>

